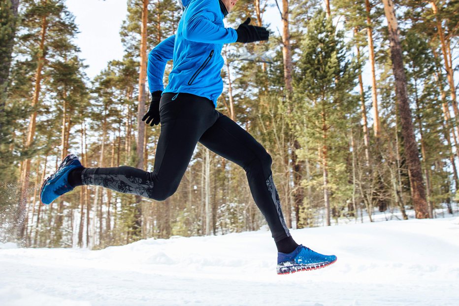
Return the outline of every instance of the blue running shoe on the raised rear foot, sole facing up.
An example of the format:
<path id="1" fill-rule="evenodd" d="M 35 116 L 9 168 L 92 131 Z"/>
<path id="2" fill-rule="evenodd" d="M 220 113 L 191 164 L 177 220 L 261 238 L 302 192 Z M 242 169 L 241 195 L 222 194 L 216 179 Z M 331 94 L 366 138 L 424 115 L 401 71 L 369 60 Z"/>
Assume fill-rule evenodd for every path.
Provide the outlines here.
<path id="1" fill-rule="evenodd" d="M 78 157 L 69 154 L 62 161 L 59 168 L 51 174 L 41 185 L 40 200 L 43 204 L 50 204 L 59 196 L 73 190 L 73 186 L 68 183 L 68 173 L 70 170 L 83 168 Z"/>

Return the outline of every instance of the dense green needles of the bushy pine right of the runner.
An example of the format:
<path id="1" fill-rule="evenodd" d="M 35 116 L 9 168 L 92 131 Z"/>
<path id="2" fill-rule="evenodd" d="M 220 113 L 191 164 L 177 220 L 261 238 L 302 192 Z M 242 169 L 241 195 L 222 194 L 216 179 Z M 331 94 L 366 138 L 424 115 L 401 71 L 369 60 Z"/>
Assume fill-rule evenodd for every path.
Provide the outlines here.
<path id="1" fill-rule="evenodd" d="M 297 150 L 298 157 L 319 164 L 321 169 L 307 177 L 302 186 L 320 191 L 325 184 L 322 173 L 325 167 L 329 177 L 323 188 L 327 188 L 332 206 L 339 211 L 350 198 L 348 134 L 356 124 L 359 98 L 352 90 L 358 66 L 351 60 L 343 32 L 336 29 L 324 11 L 317 11 L 307 30 L 295 72 L 294 126 L 302 146 Z M 305 203 L 302 214 L 311 205 Z M 300 216 L 300 220 L 309 218 Z"/>

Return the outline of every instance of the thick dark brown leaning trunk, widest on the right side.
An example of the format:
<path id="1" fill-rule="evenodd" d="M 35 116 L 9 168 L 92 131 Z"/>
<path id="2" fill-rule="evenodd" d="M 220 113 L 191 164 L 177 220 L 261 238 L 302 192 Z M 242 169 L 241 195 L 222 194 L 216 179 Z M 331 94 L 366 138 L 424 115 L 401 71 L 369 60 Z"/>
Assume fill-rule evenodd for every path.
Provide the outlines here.
<path id="1" fill-rule="evenodd" d="M 414 136 L 411 110 L 408 102 L 408 95 L 406 93 L 406 76 L 403 68 L 402 50 L 398 36 L 398 24 L 392 0 L 383 0 L 383 3 L 389 28 L 392 68 L 395 78 L 395 94 L 398 102 L 405 157 L 412 187 L 411 197 L 416 212 L 416 218 L 428 218 L 426 191 L 424 188 L 421 162 L 419 160 L 419 150 Z"/>

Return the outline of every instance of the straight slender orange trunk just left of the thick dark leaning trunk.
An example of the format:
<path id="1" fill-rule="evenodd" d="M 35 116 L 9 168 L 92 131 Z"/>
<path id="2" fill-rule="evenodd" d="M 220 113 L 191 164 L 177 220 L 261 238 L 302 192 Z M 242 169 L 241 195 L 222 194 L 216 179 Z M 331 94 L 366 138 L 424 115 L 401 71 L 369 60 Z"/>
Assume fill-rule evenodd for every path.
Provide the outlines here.
<path id="1" fill-rule="evenodd" d="M 371 68 L 371 100 L 373 102 L 373 133 L 376 139 L 378 139 L 380 134 L 380 123 L 379 123 L 379 111 L 378 111 L 378 93 L 376 90 L 376 72 L 375 72 L 375 56 L 374 56 L 374 45 L 373 45 L 373 28 L 371 27 L 371 17 L 370 17 L 370 1 L 365 0 L 366 8 L 366 34 L 368 41 L 368 60 L 370 62 Z"/>

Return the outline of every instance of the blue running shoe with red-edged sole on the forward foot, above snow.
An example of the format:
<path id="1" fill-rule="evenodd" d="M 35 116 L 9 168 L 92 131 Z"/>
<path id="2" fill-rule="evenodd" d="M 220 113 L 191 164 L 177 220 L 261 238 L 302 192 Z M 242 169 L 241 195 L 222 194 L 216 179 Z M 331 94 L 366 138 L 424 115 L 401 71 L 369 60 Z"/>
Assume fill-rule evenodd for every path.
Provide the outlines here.
<path id="1" fill-rule="evenodd" d="M 277 274 L 321 269 L 335 261 L 335 255 L 322 255 L 300 244 L 292 253 L 277 253 Z"/>

